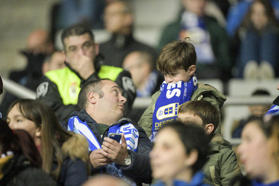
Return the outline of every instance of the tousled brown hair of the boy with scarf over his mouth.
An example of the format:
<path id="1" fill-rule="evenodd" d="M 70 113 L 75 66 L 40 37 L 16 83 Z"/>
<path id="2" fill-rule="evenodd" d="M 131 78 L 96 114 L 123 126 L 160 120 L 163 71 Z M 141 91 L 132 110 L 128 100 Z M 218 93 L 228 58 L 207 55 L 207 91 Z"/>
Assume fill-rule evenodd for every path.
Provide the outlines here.
<path id="1" fill-rule="evenodd" d="M 184 41 L 175 40 L 166 44 L 156 61 L 157 69 L 162 73 L 170 73 L 179 68 L 187 71 L 191 65 L 196 65 L 197 55 L 191 41 L 185 38 Z"/>

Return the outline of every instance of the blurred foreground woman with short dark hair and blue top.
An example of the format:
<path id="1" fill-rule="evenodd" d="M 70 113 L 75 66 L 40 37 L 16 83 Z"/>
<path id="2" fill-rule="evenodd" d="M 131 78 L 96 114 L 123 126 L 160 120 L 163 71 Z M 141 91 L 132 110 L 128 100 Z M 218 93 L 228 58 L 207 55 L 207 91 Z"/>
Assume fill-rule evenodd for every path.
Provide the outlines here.
<path id="1" fill-rule="evenodd" d="M 203 128 L 172 122 L 157 133 L 150 153 L 155 186 L 205 186 L 201 168 L 206 162 L 209 139 Z"/>

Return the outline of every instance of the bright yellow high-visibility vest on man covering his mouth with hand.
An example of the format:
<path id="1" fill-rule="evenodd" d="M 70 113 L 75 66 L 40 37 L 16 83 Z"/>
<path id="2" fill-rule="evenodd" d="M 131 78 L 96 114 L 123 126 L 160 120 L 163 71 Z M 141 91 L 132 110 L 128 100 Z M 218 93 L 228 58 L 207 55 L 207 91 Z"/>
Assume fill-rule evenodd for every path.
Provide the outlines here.
<path id="1" fill-rule="evenodd" d="M 122 68 L 102 65 L 98 73 L 99 78 L 109 78 L 115 81 Z M 45 73 L 57 87 L 64 105 L 77 104 L 80 91 L 80 78 L 68 67 L 58 70 L 51 70 Z"/>

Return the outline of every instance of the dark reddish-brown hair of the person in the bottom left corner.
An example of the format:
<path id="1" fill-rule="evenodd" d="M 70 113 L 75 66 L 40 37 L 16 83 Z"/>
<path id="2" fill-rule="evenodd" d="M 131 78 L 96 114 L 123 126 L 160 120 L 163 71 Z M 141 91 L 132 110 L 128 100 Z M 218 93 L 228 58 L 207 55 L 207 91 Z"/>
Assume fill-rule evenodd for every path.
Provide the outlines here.
<path id="1" fill-rule="evenodd" d="M 0 121 L 0 152 L 12 151 L 14 154 L 23 154 L 33 166 L 41 168 L 42 158 L 32 137 L 28 132 L 16 129 L 12 131 L 7 122 Z"/>

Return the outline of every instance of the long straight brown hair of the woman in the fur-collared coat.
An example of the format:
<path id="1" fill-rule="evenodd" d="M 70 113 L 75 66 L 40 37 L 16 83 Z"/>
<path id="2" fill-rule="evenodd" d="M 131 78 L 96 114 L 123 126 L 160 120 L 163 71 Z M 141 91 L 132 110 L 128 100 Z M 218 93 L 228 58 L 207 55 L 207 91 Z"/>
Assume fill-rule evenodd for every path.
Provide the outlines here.
<path id="1" fill-rule="evenodd" d="M 59 125 L 54 111 L 47 104 L 38 100 L 16 100 L 10 105 L 8 113 L 14 106 L 25 118 L 35 122 L 41 129 L 42 169 L 58 179 L 63 162 L 61 146 L 72 134 Z M 52 166 L 53 159 L 57 162 L 55 169 Z"/>

